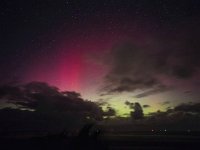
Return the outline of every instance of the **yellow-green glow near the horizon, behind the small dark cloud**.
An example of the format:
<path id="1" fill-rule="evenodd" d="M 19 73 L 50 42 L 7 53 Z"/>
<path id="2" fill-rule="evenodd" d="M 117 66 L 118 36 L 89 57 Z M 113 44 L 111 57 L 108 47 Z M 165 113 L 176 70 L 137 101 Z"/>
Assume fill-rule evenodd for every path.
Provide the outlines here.
<path id="1" fill-rule="evenodd" d="M 158 110 L 166 111 L 168 107 L 173 108 L 183 102 L 195 101 L 194 97 L 186 97 L 181 92 L 178 93 L 177 91 L 166 91 L 164 93 L 150 95 L 143 98 L 135 98 L 134 95 L 137 95 L 137 93 L 124 92 L 106 95 L 103 98 L 94 95 L 91 99 L 96 99 L 96 101 L 102 99 L 103 102 L 105 102 L 105 105 L 102 106 L 103 110 L 106 111 L 107 107 L 111 107 L 116 110 L 117 117 L 129 117 L 130 112 L 134 111 L 125 105 L 125 101 L 132 103 L 139 102 L 141 106 L 150 105 L 150 107 L 143 108 L 144 115 L 146 116 L 150 113 L 157 112 Z M 168 104 L 163 105 L 164 102 L 168 102 Z"/>

